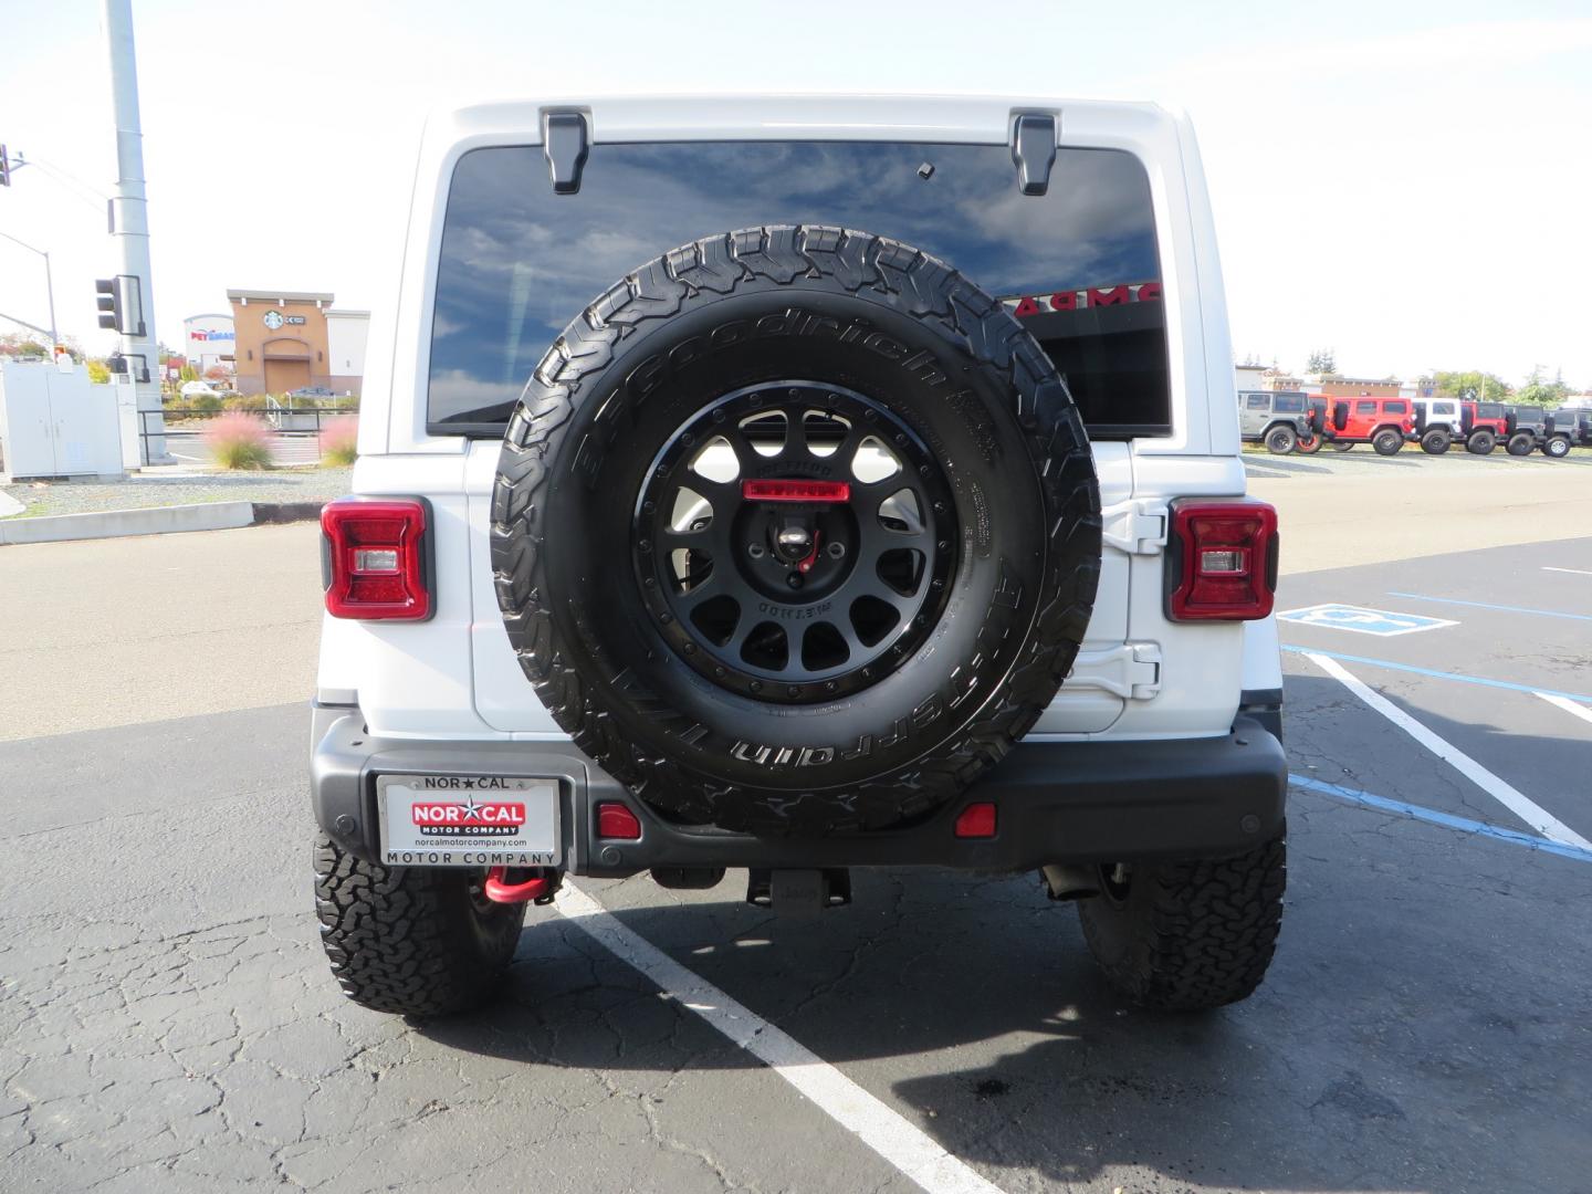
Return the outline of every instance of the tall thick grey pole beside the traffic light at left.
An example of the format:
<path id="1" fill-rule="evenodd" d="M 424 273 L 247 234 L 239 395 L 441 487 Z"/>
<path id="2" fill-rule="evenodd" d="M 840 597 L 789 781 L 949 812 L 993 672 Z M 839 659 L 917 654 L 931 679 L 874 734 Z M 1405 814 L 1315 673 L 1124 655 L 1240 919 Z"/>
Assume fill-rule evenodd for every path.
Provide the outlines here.
<path id="1" fill-rule="evenodd" d="M 116 194 L 110 201 L 110 232 L 121 252 L 121 274 L 137 280 L 142 310 L 131 333 L 121 336 L 121 355 L 135 382 L 145 465 L 167 463 L 166 419 L 161 414 L 161 358 L 154 336 L 154 288 L 150 282 L 150 212 L 143 194 L 143 129 L 139 121 L 139 64 L 132 45 L 132 0 L 103 0 L 105 49 L 110 54 L 110 91 L 116 119 Z M 139 368 L 150 382 L 139 382 Z"/>

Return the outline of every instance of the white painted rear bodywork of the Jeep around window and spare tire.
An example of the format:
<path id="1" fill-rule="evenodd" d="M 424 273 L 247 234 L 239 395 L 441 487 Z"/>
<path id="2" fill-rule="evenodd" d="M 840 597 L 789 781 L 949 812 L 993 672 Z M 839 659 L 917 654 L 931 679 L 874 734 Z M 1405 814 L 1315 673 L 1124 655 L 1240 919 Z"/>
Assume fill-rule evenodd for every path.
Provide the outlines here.
<path id="1" fill-rule="evenodd" d="M 371 731 L 390 737 L 564 736 L 524 678 L 498 616 L 487 529 L 497 444 L 428 435 L 425 390 L 454 164 L 481 146 L 535 145 L 541 113 L 572 107 L 591 115 L 597 146 L 728 139 L 1003 145 L 1014 110 L 1038 110 L 1059 113 L 1065 146 L 1134 153 L 1148 174 L 1156 212 L 1173 431 L 1095 446 L 1106 538 L 1100 592 L 1073 677 L 1035 734 L 1219 736 L 1232 724 L 1240 689 L 1280 688 L 1269 621 L 1173 624 L 1162 613 L 1167 501 L 1245 492 L 1221 266 L 1199 151 L 1184 118 L 1148 103 L 1043 99 L 670 97 L 497 103 L 428 124 L 396 310 L 371 326 L 353 489 L 431 500 L 436 616 L 423 624 L 328 618 L 318 680 L 323 700 L 352 700 L 357 693 Z"/>

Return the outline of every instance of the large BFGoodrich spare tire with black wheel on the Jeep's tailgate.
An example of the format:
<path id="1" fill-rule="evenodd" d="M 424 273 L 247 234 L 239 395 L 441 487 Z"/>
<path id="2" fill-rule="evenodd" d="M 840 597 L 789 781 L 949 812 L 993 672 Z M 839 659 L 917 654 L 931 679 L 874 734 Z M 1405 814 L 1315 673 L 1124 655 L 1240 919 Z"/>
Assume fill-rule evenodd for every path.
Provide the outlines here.
<path id="1" fill-rule="evenodd" d="M 946 263 L 710 236 L 597 298 L 505 435 L 509 642 L 576 745 L 683 823 L 931 812 L 1033 726 L 1100 568 L 1083 422 Z"/>

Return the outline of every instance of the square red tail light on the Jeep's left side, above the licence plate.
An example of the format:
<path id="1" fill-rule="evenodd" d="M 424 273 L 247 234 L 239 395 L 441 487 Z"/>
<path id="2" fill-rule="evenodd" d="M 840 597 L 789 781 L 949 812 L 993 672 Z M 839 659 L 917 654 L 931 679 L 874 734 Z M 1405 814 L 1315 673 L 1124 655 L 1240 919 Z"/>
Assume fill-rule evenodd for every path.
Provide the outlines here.
<path id="1" fill-rule="evenodd" d="M 428 514 L 419 498 L 328 501 L 320 511 L 326 613 L 369 621 L 430 618 Z"/>

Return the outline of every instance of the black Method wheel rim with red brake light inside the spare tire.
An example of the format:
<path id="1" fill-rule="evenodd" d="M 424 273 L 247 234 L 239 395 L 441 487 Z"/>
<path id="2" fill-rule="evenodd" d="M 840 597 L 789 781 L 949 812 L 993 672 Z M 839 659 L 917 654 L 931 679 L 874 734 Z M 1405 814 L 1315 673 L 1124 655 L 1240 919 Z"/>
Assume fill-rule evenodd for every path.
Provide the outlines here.
<path id="1" fill-rule="evenodd" d="M 736 390 L 677 428 L 646 478 L 632 535 L 643 600 L 720 688 L 834 700 L 939 624 L 960 541 L 952 486 L 917 433 L 863 395 L 801 380 Z"/>

